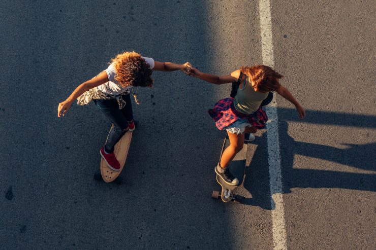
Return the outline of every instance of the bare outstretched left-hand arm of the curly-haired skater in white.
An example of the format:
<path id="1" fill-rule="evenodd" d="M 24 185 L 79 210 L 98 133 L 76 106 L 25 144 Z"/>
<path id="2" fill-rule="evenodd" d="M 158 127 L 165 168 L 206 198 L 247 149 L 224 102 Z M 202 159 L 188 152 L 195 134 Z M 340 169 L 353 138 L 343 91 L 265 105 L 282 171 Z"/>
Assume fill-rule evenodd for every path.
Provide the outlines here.
<path id="1" fill-rule="evenodd" d="M 65 101 L 59 103 L 57 108 L 57 117 L 60 117 L 61 115 L 64 116 L 71 107 L 73 101 L 85 91 L 98 87 L 106 82 L 108 82 L 107 73 L 103 71 L 97 77 L 80 84 Z"/>

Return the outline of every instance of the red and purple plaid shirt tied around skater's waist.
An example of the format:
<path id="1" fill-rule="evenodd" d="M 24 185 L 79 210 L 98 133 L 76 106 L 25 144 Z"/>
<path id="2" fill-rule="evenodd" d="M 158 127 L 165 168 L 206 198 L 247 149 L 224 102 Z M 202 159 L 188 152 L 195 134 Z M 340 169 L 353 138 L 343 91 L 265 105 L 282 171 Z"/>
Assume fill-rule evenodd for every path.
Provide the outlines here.
<path id="1" fill-rule="evenodd" d="M 239 118 L 247 119 L 250 125 L 258 129 L 265 128 L 268 121 L 268 117 L 261 106 L 255 113 L 246 115 L 235 110 L 234 98 L 231 97 L 219 100 L 215 103 L 214 109 L 208 110 L 208 113 L 215 121 L 215 125 L 219 130 L 224 130 L 224 128 Z"/>

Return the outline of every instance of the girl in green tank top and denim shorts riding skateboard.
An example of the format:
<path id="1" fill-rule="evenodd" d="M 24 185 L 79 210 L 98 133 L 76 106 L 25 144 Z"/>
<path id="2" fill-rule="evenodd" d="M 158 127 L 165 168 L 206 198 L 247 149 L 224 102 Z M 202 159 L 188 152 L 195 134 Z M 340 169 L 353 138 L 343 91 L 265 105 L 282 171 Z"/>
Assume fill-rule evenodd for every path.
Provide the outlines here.
<path id="1" fill-rule="evenodd" d="M 227 76 L 215 76 L 191 68 L 191 76 L 213 84 L 240 82 L 234 98 L 225 98 L 209 110 L 209 115 L 220 130 L 226 130 L 230 138 L 230 146 L 222 154 L 221 162 L 215 167 L 215 172 L 230 185 L 238 185 L 237 178 L 228 171 L 228 165 L 240 152 L 244 144 L 244 133 L 250 133 L 249 140 L 255 139 L 252 133 L 265 128 L 268 117 L 261 108 L 261 103 L 268 97 L 269 91 L 278 94 L 292 102 L 300 118 L 304 118 L 305 111 L 288 89 L 279 84 L 282 75 L 265 65 L 241 67 Z"/>

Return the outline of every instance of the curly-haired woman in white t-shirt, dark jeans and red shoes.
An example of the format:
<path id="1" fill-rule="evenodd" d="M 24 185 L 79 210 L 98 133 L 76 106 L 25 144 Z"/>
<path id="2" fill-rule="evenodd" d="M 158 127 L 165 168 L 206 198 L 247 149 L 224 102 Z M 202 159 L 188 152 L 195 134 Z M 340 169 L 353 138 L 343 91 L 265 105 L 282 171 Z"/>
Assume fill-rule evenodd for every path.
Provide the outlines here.
<path id="1" fill-rule="evenodd" d="M 73 93 L 59 103 L 57 116 L 64 116 L 75 99 L 78 104 L 86 105 L 93 100 L 102 113 L 114 124 L 105 146 L 100 153 L 108 166 L 115 171 L 120 164 L 113 153 L 116 142 L 128 130 L 133 131 L 133 112 L 130 97 L 131 87 L 151 87 L 152 70 L 174 71 L 182 70 L 190 73 L 190 63 L 175 64 L 171 62 L 154 61 L 149 57 L 142 57 L 136 52 L 124 52 L 111 59 L 106 70 L 95 78 L 79 85 Z"/>

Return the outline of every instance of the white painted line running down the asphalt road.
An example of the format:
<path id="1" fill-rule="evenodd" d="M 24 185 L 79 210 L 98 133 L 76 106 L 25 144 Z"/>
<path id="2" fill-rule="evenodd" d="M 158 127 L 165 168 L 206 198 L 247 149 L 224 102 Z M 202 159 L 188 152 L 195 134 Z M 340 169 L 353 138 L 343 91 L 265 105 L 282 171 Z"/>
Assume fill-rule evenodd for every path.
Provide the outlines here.
<path id="1" fill-rule="evenodd" d="M 273 37 L 271 29 L 270 1 L 260 0 L 260 26 L 262 61 L 264 65 L 274 67 Z M 267 124 L 268 132 L 268 159 L 269 159 L 269 185 L 272 216 L 272 231 L 274 249 L 287 249 L 285 229 L 285 207 L 282 195 L 282 175 L 280 169 L 279 136 L 277 102 L 273 101 L 266 107 L 270 123 Z"/>

